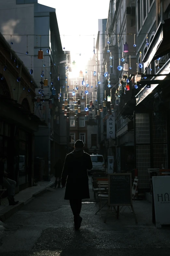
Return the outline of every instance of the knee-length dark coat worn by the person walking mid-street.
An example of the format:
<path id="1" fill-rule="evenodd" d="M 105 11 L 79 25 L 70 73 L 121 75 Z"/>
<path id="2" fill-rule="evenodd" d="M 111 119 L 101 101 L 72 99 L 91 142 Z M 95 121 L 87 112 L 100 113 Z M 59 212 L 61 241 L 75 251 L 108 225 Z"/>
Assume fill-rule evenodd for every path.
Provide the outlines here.
<path id="1" fill-rule="evenodd" d="M 61 179 L 62 186 L 67 182 L 64 199 L 90 198 L 87 169 L 92 167 L 90 155 L 83 150 L 74 150 L 66 156 Z"/>

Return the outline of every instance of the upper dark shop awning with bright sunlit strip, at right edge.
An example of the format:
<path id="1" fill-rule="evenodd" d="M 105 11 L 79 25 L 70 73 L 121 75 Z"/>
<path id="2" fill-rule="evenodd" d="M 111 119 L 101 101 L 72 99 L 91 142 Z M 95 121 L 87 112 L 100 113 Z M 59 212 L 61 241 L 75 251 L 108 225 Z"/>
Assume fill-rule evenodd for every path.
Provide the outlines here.
<path id="1" fill-rule="evenodd" d="M 144 70 L 149 67 L 151 61 L 156 60 L 170 52 L 170 18 L 163 20 L 153 37 L 152 42 L 143 58 Z"/>

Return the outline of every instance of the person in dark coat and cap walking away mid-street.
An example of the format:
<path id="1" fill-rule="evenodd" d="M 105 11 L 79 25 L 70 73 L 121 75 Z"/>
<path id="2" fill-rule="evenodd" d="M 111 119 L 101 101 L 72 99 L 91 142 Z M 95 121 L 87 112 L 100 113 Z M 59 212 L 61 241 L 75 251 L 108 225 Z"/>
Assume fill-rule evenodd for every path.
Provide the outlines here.
<path id="1" fill-rule="evenodd" d="M 74 150 L 65 158 L 62 173 L 62 188 L 65 188 L 65 200 L 70 200 L 71 210 L 74 215 L 75 229 L 81 226 L 80 217 L 82 199 L 90 198 L 89 177 L 87 169 L 92 169 L 92 159 L 84 152 L 84 143 L 77 140 Z"/>

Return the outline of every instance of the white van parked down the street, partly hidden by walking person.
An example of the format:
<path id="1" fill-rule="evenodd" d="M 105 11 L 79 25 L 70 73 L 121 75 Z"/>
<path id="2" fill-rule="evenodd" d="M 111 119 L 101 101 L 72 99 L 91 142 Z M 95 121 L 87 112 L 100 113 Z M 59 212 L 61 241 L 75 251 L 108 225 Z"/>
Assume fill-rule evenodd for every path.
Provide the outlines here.
<path id="1" fill-rule="evenodd" d="M 90 155 L 92 159 L 93 168 L 88 170 L 88 173 L 105 172 L 105 161 L 102 155 Z"/>

